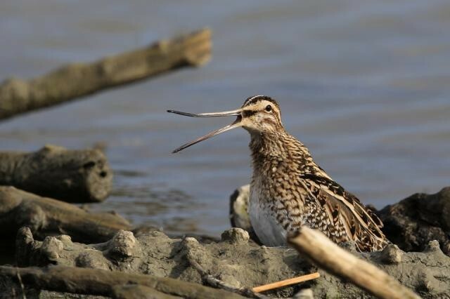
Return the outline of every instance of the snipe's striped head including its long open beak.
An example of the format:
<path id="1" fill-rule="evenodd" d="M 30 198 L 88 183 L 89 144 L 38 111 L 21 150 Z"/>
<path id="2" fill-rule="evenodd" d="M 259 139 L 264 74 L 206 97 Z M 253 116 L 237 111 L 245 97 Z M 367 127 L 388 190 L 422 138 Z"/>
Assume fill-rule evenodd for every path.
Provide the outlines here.
<path id="1" fill-rule="evenodd" d="M 174 110 L 167 110 L 167 112 L 181 114 L 187 117 L 237 117 L 236 121 L 233 121 L 228 126 L 219 128 L 216 131 L 212 131 L 207 135 L 181 145 L 181 147 L 174 150 L 174 152 L 184 150 L 186 147 L 195 145 L 195 143 L 207 140 L 208 138 L 211 138 L 212 136 L 218 135 L 220 133 L 230 131 L 233 128 L 243 127 L 252 135 L 275 133 L 283 129 L 283 124 L 281 123 L 280 106 L 278 105 L 276 100 L 266 95 L 252 96 L 245 100 L 242 107 L 231 111 L 200 114 L 179 112 Z"/>

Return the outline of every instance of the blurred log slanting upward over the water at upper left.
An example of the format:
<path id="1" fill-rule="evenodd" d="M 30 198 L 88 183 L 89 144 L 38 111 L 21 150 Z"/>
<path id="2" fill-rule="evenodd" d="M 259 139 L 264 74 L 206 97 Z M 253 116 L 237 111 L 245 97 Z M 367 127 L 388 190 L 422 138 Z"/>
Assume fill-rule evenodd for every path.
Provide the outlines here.
<path id="1" fill-rule="evenodd" d="M 211 47 L 211 32 L 203 29 L 96 62 L 67 65 L 30 81 L 8 79 L 0 85 L 0 119 L 58 105 L 172 69 L 203 65 L 210 60 Z"/>

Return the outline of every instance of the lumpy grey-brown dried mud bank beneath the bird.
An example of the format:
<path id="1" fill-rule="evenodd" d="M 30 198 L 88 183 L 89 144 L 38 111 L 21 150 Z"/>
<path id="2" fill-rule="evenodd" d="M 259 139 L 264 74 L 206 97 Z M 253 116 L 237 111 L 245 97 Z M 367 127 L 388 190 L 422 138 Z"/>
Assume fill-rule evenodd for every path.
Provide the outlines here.
<path id="1" fill-rule="evenodd" d="M 195 267 L 198 264 L 207 274 L 237 288 L 252 288 L 317 270 L 292 248 L 259 246 L 247 232 L 237 228 L 224 232 L 221 241 L 208 244 L 193 237 L 172 239 L 158 231 L 137 236 L 120 231 L 101 244 L 75 243 L 66 235 L 36 241 L 30 230 L 23 228 L 16 246 L 21 267 L 75 266 L 207 284 L 198 266 Z M 450 296 L 450 258 L 442 253 L 437 241 L 430 242 L 423 252 L 410 253 L 392 246 L 375 253 L 356 253 L 353 244 L 345 244 L 345 248 L 385 270 L 423 298 Z M 319 272 L 319 279 L 269 291 L 266 295 L 286 297 L 310 289 L 314 298 L 368 297 L 352 284 Z"/>

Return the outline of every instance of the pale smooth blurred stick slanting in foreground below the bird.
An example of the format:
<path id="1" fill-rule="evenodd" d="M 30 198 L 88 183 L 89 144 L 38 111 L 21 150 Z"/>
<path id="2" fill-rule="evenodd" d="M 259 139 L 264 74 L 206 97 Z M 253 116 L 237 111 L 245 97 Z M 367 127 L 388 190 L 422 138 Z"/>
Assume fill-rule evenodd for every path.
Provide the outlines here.
<path id="1" fill-rule="evenodd" d="M 383 270 L 356 258 L 317 230 L 302 227 L 300 232 L 288 237 L 288 242 L 319 267 L 351 281 L 378 298 L 420 298 Z"/>

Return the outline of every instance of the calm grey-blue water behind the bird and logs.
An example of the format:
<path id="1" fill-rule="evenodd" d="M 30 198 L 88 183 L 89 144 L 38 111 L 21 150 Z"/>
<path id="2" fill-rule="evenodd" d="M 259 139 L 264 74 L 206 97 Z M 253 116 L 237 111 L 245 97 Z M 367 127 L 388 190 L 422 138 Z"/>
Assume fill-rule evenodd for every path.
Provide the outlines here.
<path id="1" fill-rule="evenodd" d="M 105 142 L 115 189 L 94 210 L 219 234 L 229 194 L 250 180 L 248 133 L 171 154 L 231 119 L 165 110 L 233 109 L 266 94 L 288 131 L 366 204 L 450 185 L 449 1 L 3 0 L 0 79 L 204 26 L 214 31 L 210 64 L 1 122 L 0 150 Z"/>

